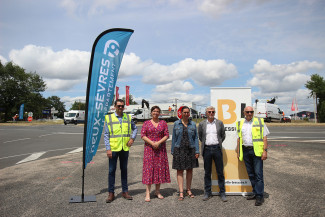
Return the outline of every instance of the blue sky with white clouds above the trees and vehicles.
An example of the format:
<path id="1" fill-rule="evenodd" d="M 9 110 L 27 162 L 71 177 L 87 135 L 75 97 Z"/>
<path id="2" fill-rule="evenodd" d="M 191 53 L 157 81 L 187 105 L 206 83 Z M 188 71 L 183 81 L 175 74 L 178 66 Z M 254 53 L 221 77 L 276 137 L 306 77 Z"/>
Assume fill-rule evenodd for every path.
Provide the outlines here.
<path id="1" fill-rule="evenodd" d="M 133 29 L 119 71 L 138 103 L 210 105 L 211 87 L 251 87 L 292 114 L 313 111 L 304 87 L 325 77 L 323 0 L 0 0 L 0 61 L 46 82 L 44 97 L 85 101 L 96 37 Z"/>

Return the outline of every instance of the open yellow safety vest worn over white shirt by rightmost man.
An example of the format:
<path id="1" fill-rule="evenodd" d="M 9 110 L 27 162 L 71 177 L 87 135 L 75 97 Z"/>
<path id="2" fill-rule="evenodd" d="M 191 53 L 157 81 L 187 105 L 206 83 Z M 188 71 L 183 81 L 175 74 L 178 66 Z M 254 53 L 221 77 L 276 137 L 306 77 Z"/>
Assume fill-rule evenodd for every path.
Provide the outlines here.
<path id="1" fill-rule="evenodd" d="M 240 141 L 240 150 L 239 150 L 239 160 L 243 161 L 243 136 L 242 136 L 242 128 L 245 119 L 241 119 L 237 122 L 237 133 Z M 256 156 L 261 157 L 264 151 L 264 142 L 263 142 L 263 134 L 264 134 L 264 119 L 262 118 L 253 118 L 252 123 L 252 139 L 253 139 L 253 147 L 254 153 Z"/>

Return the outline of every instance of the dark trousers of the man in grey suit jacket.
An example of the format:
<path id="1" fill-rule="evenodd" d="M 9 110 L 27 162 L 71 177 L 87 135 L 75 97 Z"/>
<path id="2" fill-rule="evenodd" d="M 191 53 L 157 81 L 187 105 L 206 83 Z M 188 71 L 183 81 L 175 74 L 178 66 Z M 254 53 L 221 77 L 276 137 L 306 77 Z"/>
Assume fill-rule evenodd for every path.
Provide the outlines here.
<path id="1" fill-rule="evenodd" d="M 204 190 L 205 193 L 211 194 L 211 171 L 212 160 L 217 170 L 218 185 L 220 194 L 225 194 L 225 176 L 223 174 L 222 150 L 219 145 L 207 145 L 204 147 Z"/>

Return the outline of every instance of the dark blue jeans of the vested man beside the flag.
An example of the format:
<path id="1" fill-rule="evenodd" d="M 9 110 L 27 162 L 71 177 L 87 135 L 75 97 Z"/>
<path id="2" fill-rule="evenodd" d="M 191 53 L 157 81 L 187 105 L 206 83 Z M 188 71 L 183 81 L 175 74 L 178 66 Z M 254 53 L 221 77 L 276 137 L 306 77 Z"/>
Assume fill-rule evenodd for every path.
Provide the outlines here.
<path id="1" fill-rule="evenodd" d="M 123 150 L 119 152 L 112 152 L 112 158 L 109 158 L 108 192 L 114 193 L 117 158 L 120 158 L 122 192 L 128 192 L 129 151 L 123 151 Z"/>

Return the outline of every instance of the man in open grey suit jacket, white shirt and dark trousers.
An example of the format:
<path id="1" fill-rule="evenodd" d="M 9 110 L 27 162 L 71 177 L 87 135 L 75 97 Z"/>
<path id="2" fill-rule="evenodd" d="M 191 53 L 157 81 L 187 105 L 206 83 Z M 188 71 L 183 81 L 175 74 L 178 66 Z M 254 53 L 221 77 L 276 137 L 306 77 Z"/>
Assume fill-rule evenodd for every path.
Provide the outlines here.
<path id="1" fill-rule="evenodd" d="M 223 122 L 216 119 L 215 108 L 209 106 L 206 108 L 207 120 L 199 124 L 199 140 L 201 141 L 202 156 L 204 161 L 204 196 L 203 200 L 211 198 L 211 171 L 212 160 L 214 161 L 218 185 L 220 189 L 220 198 L 223 202 L 227 201 L 225 190 L 225 176 L 223 173 L 222 142 L 226 138 L 225 127 Z"/>

